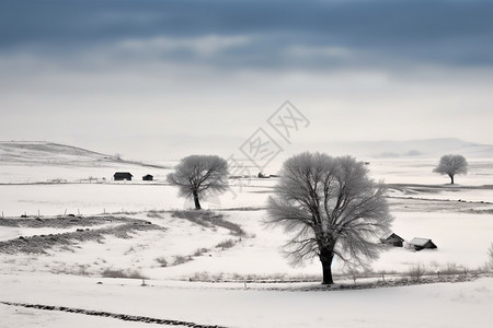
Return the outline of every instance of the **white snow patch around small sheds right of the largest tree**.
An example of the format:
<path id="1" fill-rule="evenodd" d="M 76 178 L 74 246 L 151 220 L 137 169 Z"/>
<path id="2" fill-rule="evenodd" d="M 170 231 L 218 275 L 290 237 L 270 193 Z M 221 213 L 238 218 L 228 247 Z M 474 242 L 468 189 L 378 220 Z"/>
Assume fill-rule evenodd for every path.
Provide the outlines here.
<path id="1" fill-rule="evenodd" d="M 493 242 L 493 221 L 488 214 L 443 212 L 394 212 L 392 230 L 405 241 L 425 236 L 432 238 L 437 249 L 411 251 L 392 247 L 381 254 L 374 269 L 405 271 L 415 265 L 433 270 L 447 263 L 469 269 L 484 265 L 486 250 Z"/>

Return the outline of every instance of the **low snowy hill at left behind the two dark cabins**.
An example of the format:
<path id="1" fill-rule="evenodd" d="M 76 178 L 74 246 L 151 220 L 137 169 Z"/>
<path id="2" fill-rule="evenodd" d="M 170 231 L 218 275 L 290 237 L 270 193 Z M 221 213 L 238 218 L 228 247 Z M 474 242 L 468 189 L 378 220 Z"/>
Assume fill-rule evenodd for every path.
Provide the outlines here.
<path id="1" fill-rule="evenodd" d="M 163 180 L 171 165 L 126 161 L 85 149 L 50 142 L 0 142 L 0 184 L 112 180 L 115 172 L 147 174 Z"/>

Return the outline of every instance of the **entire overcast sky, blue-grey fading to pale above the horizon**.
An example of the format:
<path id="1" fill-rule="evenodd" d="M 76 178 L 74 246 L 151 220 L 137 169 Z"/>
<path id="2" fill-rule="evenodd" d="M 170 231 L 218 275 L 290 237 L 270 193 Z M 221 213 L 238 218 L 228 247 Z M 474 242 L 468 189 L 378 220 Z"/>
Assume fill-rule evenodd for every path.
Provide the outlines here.
<path id="1" fill-rule="evenodd" d="M 493 143 L 492 16 L 469 0 L 0 0 L 0 140 L 226 156 L 289 99 L 310 121 L 291 144 Z"/>

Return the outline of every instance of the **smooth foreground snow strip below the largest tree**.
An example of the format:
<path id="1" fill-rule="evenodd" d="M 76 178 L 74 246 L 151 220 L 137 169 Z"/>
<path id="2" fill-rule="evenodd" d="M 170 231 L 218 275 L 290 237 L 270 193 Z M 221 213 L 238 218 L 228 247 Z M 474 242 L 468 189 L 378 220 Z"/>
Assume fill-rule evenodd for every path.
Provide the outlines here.
<path id="1" fill-rule="evenodd" d="M 102 281 L 103 284 L 96 284 Z M 70 276 L 0 276 L 2 297 L 10 302 L 51 304 L 227 327 L 490 327 L 493 279 L 469 283 L 358 291 L 266 291 L 255 286 L 217 289 L 207 284 L 112 281 Z M 20 311 L 24 311 L 20 308 Z M 30 327 L 25 316 L 0 306 L 5 327 Z M 7 315 L 4 315 L 7 314 Z M 57 325 L 85 327 L 80 315 L 51 316 Z M 49 317 L 51 316 L 51 317 Z M 44 320 L 47 318 L 42 317 Z M 67 323 L 67 321 L 66 321 Z M 103 320 L 105 327 L 121 320 Z M 24 324 L 24 325 L 22 325 Z M 145 327 L 134 324 L 131 327 Z M 59 326 L 55 326 L 59 327 Z"/>

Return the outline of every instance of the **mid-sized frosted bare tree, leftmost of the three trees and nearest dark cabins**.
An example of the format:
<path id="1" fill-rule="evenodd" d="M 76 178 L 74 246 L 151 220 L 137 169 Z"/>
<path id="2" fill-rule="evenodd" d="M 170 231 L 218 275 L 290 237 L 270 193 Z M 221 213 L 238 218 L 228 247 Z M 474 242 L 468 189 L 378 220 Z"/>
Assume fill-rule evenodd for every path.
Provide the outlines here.
<path id="1" fill-rule="evenodd" d="M 180 197 L 193 197 L 195 209 L 200 209 L 199 197 L 206 191 L 223 192 L 228 189 L 228 163 L 219 156 L 191 155 L 176 165 L 168 181 L 179 187 Z"/>

